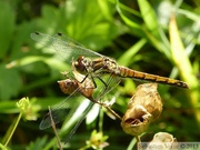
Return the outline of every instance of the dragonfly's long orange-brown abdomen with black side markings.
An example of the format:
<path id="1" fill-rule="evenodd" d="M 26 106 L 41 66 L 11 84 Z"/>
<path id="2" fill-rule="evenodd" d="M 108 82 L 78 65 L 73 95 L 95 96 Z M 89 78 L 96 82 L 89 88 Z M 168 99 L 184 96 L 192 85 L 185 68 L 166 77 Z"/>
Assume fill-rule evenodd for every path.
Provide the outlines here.
<path id="1" fill-rule="evenodd" d="M 171 86 L 177 86 L 181 88 L 187 88 L 189 89 L 189 86 L 180 80 L 174 80 L 166 77 L 160 77 L 156 74 L 150 74 L 146 72 L 140 72 L 136 70 L 131 70 L 126 67 L 120 67 L 120 77 L 122 78 L 134 78 L 134 79 L 140 79 L 140 80 L 146 80 L 146 81 L 153 81 L 158 83 L 163 83 L 163 84 L 171 84 Z"/>

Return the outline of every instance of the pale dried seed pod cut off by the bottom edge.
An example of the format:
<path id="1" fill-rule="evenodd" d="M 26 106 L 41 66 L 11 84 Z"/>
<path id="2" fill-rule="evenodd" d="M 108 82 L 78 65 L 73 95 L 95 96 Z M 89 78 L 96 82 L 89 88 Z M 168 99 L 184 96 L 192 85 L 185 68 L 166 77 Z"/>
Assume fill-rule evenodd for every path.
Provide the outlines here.
<path id="1" fill-rule="evenodd" d="M 172 134 L 168 132 L 158 132 L 146 150 L 178 150 L 178 142 Z"/>

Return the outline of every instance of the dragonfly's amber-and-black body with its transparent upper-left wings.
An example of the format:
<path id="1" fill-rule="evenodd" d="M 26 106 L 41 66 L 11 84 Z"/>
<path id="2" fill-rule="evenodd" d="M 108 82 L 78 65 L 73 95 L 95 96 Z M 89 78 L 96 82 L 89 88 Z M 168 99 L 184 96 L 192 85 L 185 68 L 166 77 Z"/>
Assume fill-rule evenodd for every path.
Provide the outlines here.
<path id="1" fill-rule="evenodd" d="M 31 38 L 43 46 L 52 44 L 54 50 L 64 60 L 70 61 L 71 66 L 77 71 L 86 74 L 86 78 L 90 78 L 92 81 L 94 78 L 98 78 L 104 86 L 108 84 L 101 79 L 102 73 L 111 73 L 113 74 L 113 78 L 121 77 L 139 79 L 189 89 L 188 83 L 183 81 L 141 72 L 120 66 L 114 59 L 87 49 L 71 38 L 64 37 L 62 33 L 51 37 L 44 33 L 34 32 L 31 33 Z M 94 86 L 97 87 L 96 82 Z"/>

